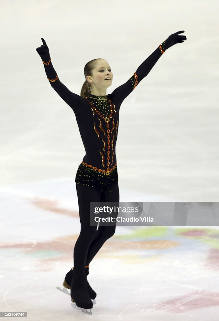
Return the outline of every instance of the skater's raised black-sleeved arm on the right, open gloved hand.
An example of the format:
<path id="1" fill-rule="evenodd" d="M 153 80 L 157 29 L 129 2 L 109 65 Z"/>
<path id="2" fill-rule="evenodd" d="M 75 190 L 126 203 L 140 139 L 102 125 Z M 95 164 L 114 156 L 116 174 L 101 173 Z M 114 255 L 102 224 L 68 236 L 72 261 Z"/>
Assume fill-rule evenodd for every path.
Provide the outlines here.
<path id="1" fill-rule="evenodd" d="M 156 50 L 154 50 L 154 52 L 137 68 L 136 72 L 128 79 L 128 81 L 116 88 L 111 93 L 110 96 L 112 101 L 117 101 L 119 104 L 121 104 L 122 101 L 130 94 L 130 92 L 135 89 L 137 84 L 139 84 L 139 82 L 146 77 L 166 49 L 170 48 L 176 43 L 186 40 L 186 36 L 179 36 L 179 33 L 182 32 L 185 31 L 173 33 L 169 38 L 163 41 L 162 44 L 160 44 L 160 46 L 156 48 Z"/>

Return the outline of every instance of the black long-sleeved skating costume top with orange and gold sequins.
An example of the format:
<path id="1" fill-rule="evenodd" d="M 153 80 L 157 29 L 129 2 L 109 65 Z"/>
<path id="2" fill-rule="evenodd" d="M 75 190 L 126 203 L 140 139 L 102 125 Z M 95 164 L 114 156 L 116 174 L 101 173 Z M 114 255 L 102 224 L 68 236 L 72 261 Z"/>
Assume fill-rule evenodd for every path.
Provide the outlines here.
<path id="1" fill-rule="evenodd" d="M 69 91 L 60 82 L 50 61 L 45 71 L 51 86 L 74 110 L 86 155 L 80 164 L 75 182 L 110 192 L 118 182 L 116 163 L 116 141 L 118 134 L 119 108 L 123 100 L 149 73 L 162 55 L 158 47 L 123 85 L 106 96 L 89 94 L 85 99 Z M 54 81 L 51 81 L 51 79 Z"/>

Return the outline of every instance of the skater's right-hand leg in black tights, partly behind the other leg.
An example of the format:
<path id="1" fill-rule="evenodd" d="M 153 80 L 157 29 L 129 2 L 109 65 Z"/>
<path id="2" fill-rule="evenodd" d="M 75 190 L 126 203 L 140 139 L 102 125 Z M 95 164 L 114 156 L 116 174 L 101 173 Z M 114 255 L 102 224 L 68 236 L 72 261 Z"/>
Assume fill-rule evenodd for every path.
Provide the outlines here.
<path id="1" fill-rule="evenodd" d="M 101 198 L 101 202 L 115 202 L 114 206 L 119 206 L 119 189 L 118 189 L 118 183 L 113 185 L 111 192 L 104 195 Z M 118 212 L 117 212 L 118 215 Z M 115 226 L 99 226 L 98 230 L 95 231 L 95 236 L 92 240 L 92 243 L 89 247 L 87 259 L 86 259 L 86 265 L 90 264 L 93 257 L 97 254 L 97 252 L 100 250 L 102 245 L 105 243 L 107 239 L 109 239 L 116 230 L 116 222 Z"/>

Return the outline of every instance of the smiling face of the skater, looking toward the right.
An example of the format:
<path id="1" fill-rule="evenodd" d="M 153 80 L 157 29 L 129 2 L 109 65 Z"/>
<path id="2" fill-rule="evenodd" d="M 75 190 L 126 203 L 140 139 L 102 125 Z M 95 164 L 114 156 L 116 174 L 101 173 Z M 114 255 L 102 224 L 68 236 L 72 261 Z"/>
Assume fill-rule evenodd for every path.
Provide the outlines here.
<path id="1" fill-rule="evenodd" d="M 110 78 L 110 80 L 106 80 L 106 78 Z M 101 89 L 111 86 L 113 74 L 107 61 L 104 59 L 97 60 L 95 68 L 92 70 L 92 75 L 86 76 L 86 79 L 91 86 L 94 85 L 96 88 Z"/>

